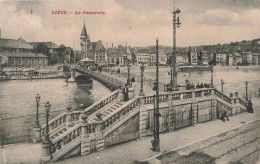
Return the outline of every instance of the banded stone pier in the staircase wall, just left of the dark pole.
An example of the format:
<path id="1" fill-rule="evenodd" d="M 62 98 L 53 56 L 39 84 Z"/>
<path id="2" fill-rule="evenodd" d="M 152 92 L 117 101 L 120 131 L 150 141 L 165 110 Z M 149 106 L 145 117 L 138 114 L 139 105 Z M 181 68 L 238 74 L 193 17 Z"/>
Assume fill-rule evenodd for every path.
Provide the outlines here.
<path id="1" fill-rule="evenodd" d="M 145 105 L 140 105 L 139 138 L 145 139 L 147 136 L 148 113 Z"/>

